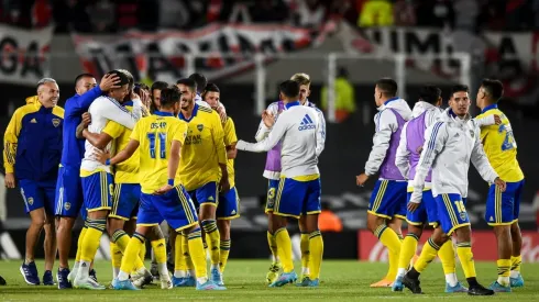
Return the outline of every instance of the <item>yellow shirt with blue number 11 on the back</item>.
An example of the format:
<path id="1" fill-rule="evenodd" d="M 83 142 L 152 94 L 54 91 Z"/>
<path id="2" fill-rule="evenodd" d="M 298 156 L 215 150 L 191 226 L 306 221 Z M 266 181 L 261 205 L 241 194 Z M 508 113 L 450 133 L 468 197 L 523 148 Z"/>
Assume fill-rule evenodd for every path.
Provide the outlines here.
<path id="1" fill-rule="evenodd" d="M 152 194 L 168 182 L 172 143 L 180 142 L 183 149 L 186 135 L 187 123 L 172 113 L 156 111 L 136 123 L 130 138 L 140 143 L 139 174 L 143 193 Z M 179 177 L 175 178 L 175 184 L 177 183 Z"/>

